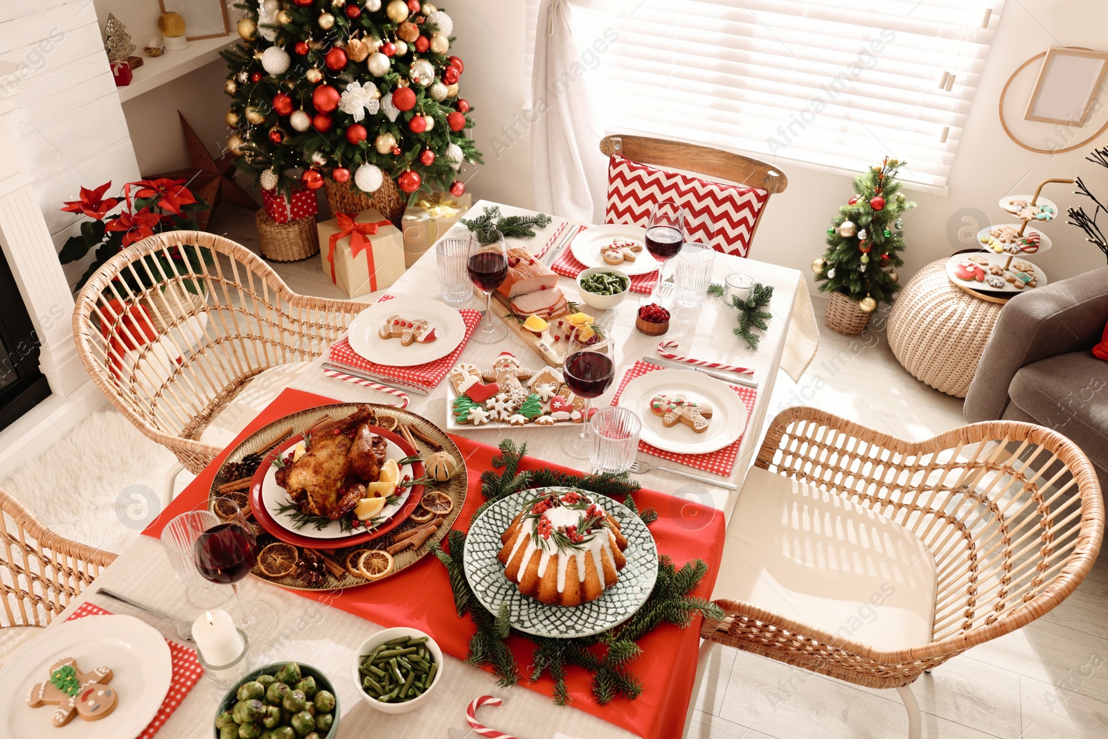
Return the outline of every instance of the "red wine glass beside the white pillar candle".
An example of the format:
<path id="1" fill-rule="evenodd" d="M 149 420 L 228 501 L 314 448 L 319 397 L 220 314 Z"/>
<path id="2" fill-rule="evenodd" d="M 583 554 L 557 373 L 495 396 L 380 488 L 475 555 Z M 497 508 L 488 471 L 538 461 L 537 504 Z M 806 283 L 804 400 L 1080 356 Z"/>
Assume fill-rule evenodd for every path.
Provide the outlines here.
<path id="1" fill-rule="evenodd" d="M 246 514 L 234 501 L 224 500 L 219 517 L 199 533 L 193 545 L 196 571 L 212 583 L 230 585 L 240 628 L 270 634 L 277 625 L 277 613 L 267 603 L 244 602 L 238 592 L 238 582 L 250 574 L 257 556 L 258 540 Z"/>

